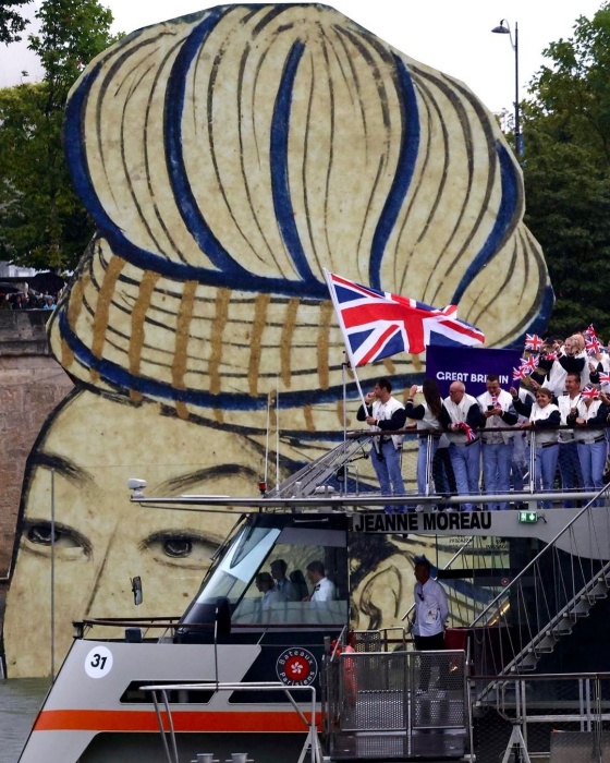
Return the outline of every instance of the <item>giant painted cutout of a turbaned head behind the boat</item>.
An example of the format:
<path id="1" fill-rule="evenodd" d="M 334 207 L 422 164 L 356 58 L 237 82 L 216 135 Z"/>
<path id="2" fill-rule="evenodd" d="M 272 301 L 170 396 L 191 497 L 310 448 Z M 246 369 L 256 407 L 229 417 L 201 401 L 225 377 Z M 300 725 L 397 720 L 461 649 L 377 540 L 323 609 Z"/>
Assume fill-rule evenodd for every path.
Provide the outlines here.
<path id="1" fill-rule="evenodd" d="M 252 495 L 268 423 L 279 479 L 342 437 L 322 268 L 457 303 L 488 347 L 536 331 L 552 305 L 493 117 L 330 8 L 222 5 L 133 33 L 73 88 L 64 142 L 98 230 L 50 327 L 77 386 L 28 461 L 11 676 L 48 673 L 47 637 L 23 632 L 34 611 L 50 618 L 51 494 L 61 656 L 72 619 L 136 614 L 134 574 L 138 616 L 178 614 L 231 524 L 133 507 L 129 476 L 150 495 Z M 391 374 L 400 396 L 423 368 L 398 356 L 361 378 Z"/>

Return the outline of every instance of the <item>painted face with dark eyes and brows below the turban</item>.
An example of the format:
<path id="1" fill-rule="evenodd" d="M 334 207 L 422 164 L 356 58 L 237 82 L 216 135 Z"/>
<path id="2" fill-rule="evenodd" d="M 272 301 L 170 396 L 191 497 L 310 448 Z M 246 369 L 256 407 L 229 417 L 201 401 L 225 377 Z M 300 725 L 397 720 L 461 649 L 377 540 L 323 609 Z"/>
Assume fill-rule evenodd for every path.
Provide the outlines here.
<path id="1" fill-rule="evenodd" d="M 59 665 L 73 620 L 181 614 L 234 523 L 231 512 L 130 504 L 130 476 L 147 480 L 149 496 L 256 495 L 261 463 L 259 448 L 243 436 L 161 415 L 157 404 L 135 408 L 91 392 L 72 398 L 46 427 L 24 482 L 4 618 L 8 669 L 14 677 L 50 669 L 53 507 Z M 135 470 L 133 464 L 138 464 Z M 135 576 L 144 593 L 137 608 L 131 591 Z"/>

